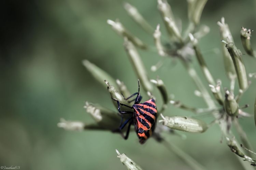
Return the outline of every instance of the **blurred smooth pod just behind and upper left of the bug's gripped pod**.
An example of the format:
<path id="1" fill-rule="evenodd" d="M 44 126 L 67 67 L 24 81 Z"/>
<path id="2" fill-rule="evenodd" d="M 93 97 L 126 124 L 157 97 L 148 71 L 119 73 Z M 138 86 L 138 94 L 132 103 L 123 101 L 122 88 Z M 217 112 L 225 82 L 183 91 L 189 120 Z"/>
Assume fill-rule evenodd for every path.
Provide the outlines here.
<path id="1" fill-rule="evenodd" d="M 104 87 L 106 87 L 104 80 L 108 80 L 110 84 L 112 84 L 113 86 L 117 86 L 115 79 L 113 79 L 111 75 L 109 75 L 106 71 L 102 70 L 88 60 L 83 60 L 82 63 L 85 68 L 91 73 L 91 75 L 93 75 L 93 77 Z"/>

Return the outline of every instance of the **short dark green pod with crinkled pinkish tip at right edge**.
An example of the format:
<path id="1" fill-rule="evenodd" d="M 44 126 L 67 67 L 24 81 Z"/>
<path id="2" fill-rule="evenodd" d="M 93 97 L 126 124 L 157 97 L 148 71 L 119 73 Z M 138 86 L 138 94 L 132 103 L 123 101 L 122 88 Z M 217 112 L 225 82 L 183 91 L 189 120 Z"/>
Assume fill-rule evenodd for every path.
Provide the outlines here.
<path id="1" fill-rule="evenodd" d="M 244 47 L 244 50 L 246 51 L 246 53 L 250 56 L 256 57 L 256 52 L 253 51 L 252 49 L 252 45 L 251 45 L 251 33 L 253 32 L 253 30 L 250 29 L 246 29 L 243 28 L 240 31 L 241 34 L 241 41 L 242 41 L 242 45 Z"/>

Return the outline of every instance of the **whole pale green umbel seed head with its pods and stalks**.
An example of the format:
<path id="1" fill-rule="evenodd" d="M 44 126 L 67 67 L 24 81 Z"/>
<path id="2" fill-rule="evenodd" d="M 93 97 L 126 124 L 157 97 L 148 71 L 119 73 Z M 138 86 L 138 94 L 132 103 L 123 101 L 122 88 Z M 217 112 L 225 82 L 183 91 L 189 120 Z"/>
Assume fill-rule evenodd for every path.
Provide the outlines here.
<path id="1" fill-rule="evenodd" d="M 190 165 L 193 169 L 205 169 L 202 167 L 194 158 L 187 155 L 185 152 L 177 148 L 176 146 L 168 143 L 163 135 L 162 131 L 172 132 L 176 134 L 177 131 L 183 131 L 187 133 L 207 133 L 208 129 L 212 124 L 218 124 L 221 130 L 221 133 L 226 139 L 227 147 L 230 148 L 232 152 L 238 155 L 239 159 L 246 160 L 250 162 L 253 166 L 256 165 L 256 160 L 251 157 L 251 155 L 244 154 L 239 146 L 237 146 L 237 141 L 232 134 L 231 125 L 234 125 L 238 131 L 238 134 L 241 140 L 244 142 L 245 147 L 248 150 L 251 149 L 250 142 L 248 141 L 245 132 L 238 122 L 240 117 L 248 117 L 250 114 L 247 114 L 242 109 L 248 107 L 239 106 L 239 102 L 242 98 L 244 92 L 249 88 L 250 83 L 247 80 L 246 67 L 243 62 L 242 52 L 236 47 L 231 32 L 229 30 L 228 24 L 225 23 L 224 17 L 221 18 L 221 21 L 218 21 L 219 32 L 221 37 L 219 38 L 220 45 L 222 46 L 223 61 L 228 77 L 230 86 L 227 88 L 222 87 L 222 81 L 215 78 L 215 75 L 211 73 L 211 70 L 208 68 L 207 62 L 204 59 L 204 55 L 200 49 L 200 38 L 206 36 L 210 31 L 207 26 L 200 26 L 200 18 L 207 0 L 187 0 L 188 3 L 188 26 L 185 29 L 181 28 L 181 20 L 177 19 L 173 12 L 171 5 L 167 0 L 158 0 L 157 8 L 160 12 L 161 19 L 164 23 L 163 26 L 157 24 L 157 26 L 152 27 L 144 17 L 139 13 L 136 7 L 132 6 L 129 3 L 125 3 L 124 7 L 128 15 L 143 29 L 145 30 L 154 40 L 156 50 L 152 50 L 151 45 L 145 43 L 139 37 L 132 34 L 127 28 L 125 28 L 125 23 L 120 22 L 119 20 L 107 20 L 107 23 L 112 27 L 112 29 L 124 39 L 124 50 L 127 53 L 127 56 L 130 60 L 131 65 L 133 66 L 133 71 L 136 73 L 138 79 L 140 80 L 142 89 L 146 92 L 147 96 L 144 96 L 143 101 L 154 98 L 157 104 L 157 114 L 158 117 L 161 114 L 161 120 L 158 120 L 155 131 L 151 129 L 151 126 L 148 126 L 147 130 L 152 130 L 153 137 L 157 139 L 159 143 L 162 143 L 167 147 L 168 150 L 171 150 L 177 156 L 181 157 L 184 162 Z M 154 31 L 152 28 L 156 28 Z M 167 35 L 163 35 L 161 29 L 166 29 Z M 243 44 L 244 50 L 250 56 L 255 57 L 255 51 L 251 47 L 251 33 L 249 29 L 242 27 L 240 32 L 241 42 Z M 155 51 L 156 56 L 159 55 L 159 62 L 156 65 L 151 67 L 151 70 L 156 72 L 160 67 L 165 67 L 166 60 L 177 59 L 181 62 L 184 69 L 187 71 L 191 80 L 197 86 L 195 94 L 197 97 L 201 97 L 205 104 L 205 108 L 192 107 L 184 104 L 179 100 L 174 100 L 174 95 L 168 93 L 172 91 L 169 89 L 165 83 L 165 75 L 159 75 L 156 79 L 150 78 L 152 74 L 146 70 L 143 60 L 140 56 L 140 51 Z M 191 61 L 198 62 L 200 69 L 204 78 L 199 77 L 194 65 L 191 64 Z M 95 122 L 93 123 L 83 123 L 80 121 L 66 121 L 61 119 L 61 122 L 58 123 L 60 128 L 66 130 L 107 130 L 111 132 L 117 132 L 121 134 L 125 139 L 128 138 L 128 135 L 123 135 L 123 132 L 127 131 L 129 134 L 129 129 L 131 125 L 135 127 L 136 120 L 138 117 L 144 117 L 144 119 L 138 119 L 138 123 L 141 123 L 143 126 L 149 124 L 150 116 L 150 107 L 152 105 L 143 106 L 141 105 L 140 109 L 134 109 L 133 98 L 129 96 L 136 96 L 135 99 L 137 102 L 141 98 L 137 93 L 131 93 L 124 82 L 119 79 L 112 78 L 106 71 L 97 67 L 93 63 L 90 63 L 87 60 L 83 61 L 85 68 L 91 73 L 91 75 L 106 89 L 108 90 L 110 96 L 109 100 L 112 100 L 116 110 L 112 111 L 108 108 L 102 107 L 98 104 L 93 104 L 86 102 L 84 108 L 86 112 L 89 113 Z M 254 73 L 250 74 L 251 77 L 254 76 Z M 159 79 L 161 77 L 161 79 Z M 169 77 L 168 77 L 169 79 Z M 207 84 L 203 84 L 202 79 L 207 81 Z M 235 91 L 235 82 L 238 81 L 239 90 Z M 135 85 L 135 83 L 134 83 Z M 160 99 L 155 98 L 157 92 L 154 90 L 157 89 Z M 133 94 L 133 95 L 132 95 Z M 196 96 L 194 96 L 196 98 Z M 129 100 L 128 100 L 129 99 Z M 137 103 L 139 104 L 139 103 Z M 184 109 L 186 111 L 193 112 L 195 114 L 210 113 L 213 115 L 213 120 L 210 123 L 206 123 L 203 120 L 195 119 L 192 117 L 184 115 L 175 115 L 175 113 L 165 113 L 168 105 L 173 105 L 175 107 Z M 255 124 L 256 124 L 256 101 L 255 101 Z M 123 114 L 123 113 L 131 113 Z M 169 114 L 168 116 L 163 116 L 163 114 Z M 130 123 L 131 122 L 131 123 Z M 128 126 L 125 126 L 128 124 Z M 142 126 L 141 125 L 141 126 Z M 139 128 L 137 128 L 136 133 L 140 133 Z M 125 154 L 120 154 L 118 151 L 118 157 L 120 157 L 121 162 L 128 169 L 141 169 L 135 162 L 128 158 Z"/>

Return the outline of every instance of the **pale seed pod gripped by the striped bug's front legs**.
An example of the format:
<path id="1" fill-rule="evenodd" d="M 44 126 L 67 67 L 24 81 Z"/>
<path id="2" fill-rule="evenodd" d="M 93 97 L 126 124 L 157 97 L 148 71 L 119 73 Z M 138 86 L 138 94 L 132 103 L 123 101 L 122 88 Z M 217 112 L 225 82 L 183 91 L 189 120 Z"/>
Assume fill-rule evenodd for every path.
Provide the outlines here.
<path id="1" fill-rule="evenodd" d="M 119 91 L 117 91 L 114 86 L 111 86 L 109 82 L 106 80 L 105 80 L 105 83 L 108 85 L 108 91 L 110 93 L 111 98 L 118 100 L 120 103 L 131 106 L 131 103 L 128 103 L 128 101 L 124 99 L 123 95 Z M 116 101 L 112 100 L 112 102 L 115 105 L 115 107 L 118 108 Z M 122 105 L 121 105 L 121 110 L 133 111 L 132 109 Z"/>

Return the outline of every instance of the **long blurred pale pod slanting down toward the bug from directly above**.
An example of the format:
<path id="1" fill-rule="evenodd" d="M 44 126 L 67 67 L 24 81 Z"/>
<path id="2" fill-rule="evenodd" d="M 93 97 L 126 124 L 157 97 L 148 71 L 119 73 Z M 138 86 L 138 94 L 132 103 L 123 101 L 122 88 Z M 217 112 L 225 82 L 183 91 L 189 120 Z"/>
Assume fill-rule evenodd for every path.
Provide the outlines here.
<path id="1" fill-rule="evenodd" d="M 145 91 L 152 92 L 153 85 L 148 80 L 145 66 L 141 60 L 141 57 L 140 57 L 138 51 L 136 50 L 136 48 L 134 47 L 132 42 L 129 41 L 127 38 L 124 38 L 124 47 L 126 49 L 128 57 L 131 61 L 131 64 L 133 65 L 133 67 L 137 73 L 137 76 L 141 82 L 142 87 L 144 88 Z"/>

